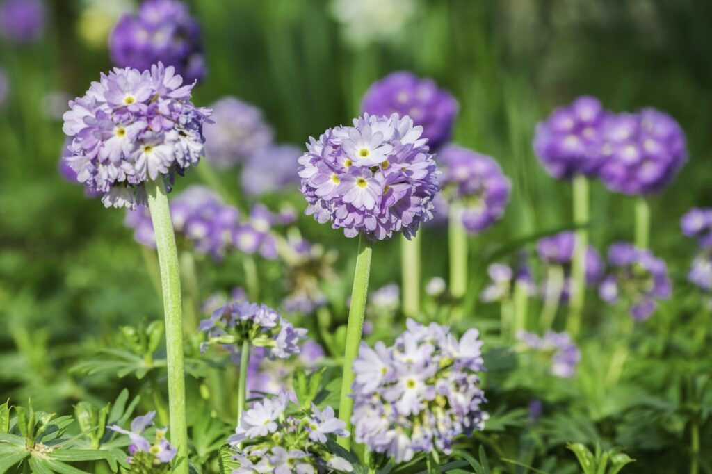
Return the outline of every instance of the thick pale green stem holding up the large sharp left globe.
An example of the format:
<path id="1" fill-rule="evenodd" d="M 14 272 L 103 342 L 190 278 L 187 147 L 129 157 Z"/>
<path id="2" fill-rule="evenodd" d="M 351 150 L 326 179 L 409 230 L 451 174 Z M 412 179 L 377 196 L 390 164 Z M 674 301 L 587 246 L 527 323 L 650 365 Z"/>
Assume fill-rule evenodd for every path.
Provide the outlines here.
<path id="1" fill-rule="evenodd" d="M 146 184 L 148 206 L 151 211 L 156 250 L 161 270 L 163 310 L 166 325 L 166 353 L 168 371 L 168 412 L 171 444 L 177 448 L 183 462 L 174 472 L 188 473 L 188 428 L 185 415 L 185 372 L 183 367 L 183 315 L 180 293 L 180 272 L 173 223 L 168 207 L 168 196 L 163 181 Z"/>

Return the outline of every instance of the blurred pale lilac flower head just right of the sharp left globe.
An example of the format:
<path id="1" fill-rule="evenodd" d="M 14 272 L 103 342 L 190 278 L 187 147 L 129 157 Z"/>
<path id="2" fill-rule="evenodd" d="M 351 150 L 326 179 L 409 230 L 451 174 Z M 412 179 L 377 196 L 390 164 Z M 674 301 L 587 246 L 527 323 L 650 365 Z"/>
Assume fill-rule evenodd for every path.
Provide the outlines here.
<path id="1" fill-rule="evenodd" d="M 272 144 L 274 132 L 257 107 L 226 97 L 215 102 L 212 108 L 213 123 L 204 130 L 207 159 L 211 164 L 223 169 L 244 164 Z M 298 156 L 297 152 L 294 159 Z"/>

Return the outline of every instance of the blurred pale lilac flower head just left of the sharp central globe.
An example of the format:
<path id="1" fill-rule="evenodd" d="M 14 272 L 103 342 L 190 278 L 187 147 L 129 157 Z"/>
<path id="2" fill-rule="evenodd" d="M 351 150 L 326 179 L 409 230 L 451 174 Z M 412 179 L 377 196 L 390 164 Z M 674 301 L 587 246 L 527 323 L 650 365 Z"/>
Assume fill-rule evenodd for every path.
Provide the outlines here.
<path id="1" fill-rule="evenodd" d="M 240 181 L 250 196 L 261 196 L 285 188 L 298 189 L 300 149 L 290 144 L 258 150 L 244 164 Z"/>

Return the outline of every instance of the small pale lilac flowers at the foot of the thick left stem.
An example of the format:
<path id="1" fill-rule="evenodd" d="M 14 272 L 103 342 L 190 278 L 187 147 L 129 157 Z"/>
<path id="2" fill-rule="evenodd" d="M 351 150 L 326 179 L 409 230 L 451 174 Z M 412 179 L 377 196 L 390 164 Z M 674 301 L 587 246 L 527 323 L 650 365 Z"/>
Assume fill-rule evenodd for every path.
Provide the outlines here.
<path id="1" fill-rule="evenodd" d="M 131 429 L 125 430 L 117 425 L 107 426 L 112 431 L 129 437 L 129 457 L 126 462 L 131 465 L 131 471 L 136 473 L 164 473 L 176 455 L 176 449 L 166 439 L 167 427 L 156 429 L 155 441 L 150 443 L 142 433 L 153 424 L 155 411 L 144 416 L 138 416 L 131 421 Z"/>

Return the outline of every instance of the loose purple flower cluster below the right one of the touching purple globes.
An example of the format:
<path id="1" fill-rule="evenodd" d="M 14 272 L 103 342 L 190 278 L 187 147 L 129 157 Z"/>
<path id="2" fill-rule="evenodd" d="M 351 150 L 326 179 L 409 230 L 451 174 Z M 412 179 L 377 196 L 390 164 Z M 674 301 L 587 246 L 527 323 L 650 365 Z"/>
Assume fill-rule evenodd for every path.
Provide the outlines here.
<path id="1" fill-rule="evenodd" d="M 636 320 L 646 320 L 656 310 L 657 300 L 670 297 L 672 285 L 665 262 L 651 251 L 614 243 L 608 249 L 608 261 L 611 273 L 601 281 L 598 293 L 609 303 L 624 300 Z"/>

